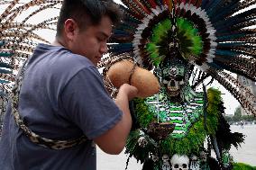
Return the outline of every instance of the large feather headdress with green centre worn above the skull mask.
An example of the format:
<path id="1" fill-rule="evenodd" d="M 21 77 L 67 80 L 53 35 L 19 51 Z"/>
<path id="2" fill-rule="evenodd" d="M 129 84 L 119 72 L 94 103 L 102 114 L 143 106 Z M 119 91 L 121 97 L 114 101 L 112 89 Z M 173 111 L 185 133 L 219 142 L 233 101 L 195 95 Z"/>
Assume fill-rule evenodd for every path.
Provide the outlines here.
<path id="1" fill-rule="evenodd" d="M 114 29 L 110 57 L 124 53 L 141 67 L 157 67 L 177 46 L 200 74 L 211 76 L 256 115 L 256 98 L 232 73 L 256 81 L 256 1 L 123 0 L 123 23 Z"/>

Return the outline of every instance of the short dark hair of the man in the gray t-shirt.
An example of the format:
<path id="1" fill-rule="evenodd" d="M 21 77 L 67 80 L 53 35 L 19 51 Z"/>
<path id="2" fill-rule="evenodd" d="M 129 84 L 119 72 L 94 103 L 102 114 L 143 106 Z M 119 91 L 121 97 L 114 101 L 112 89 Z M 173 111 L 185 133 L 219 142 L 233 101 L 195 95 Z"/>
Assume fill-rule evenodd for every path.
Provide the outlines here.
<path id="1" fill-rule="evenodd" d="M 67 19 L 75 20 L 78 27 L 84 30 L 98 24 L 105 15 L 116 25 L 121 21 L 122 12 L 112 0 L 64 0 L 57 23 L 57 36 L 61 35 Z"/>

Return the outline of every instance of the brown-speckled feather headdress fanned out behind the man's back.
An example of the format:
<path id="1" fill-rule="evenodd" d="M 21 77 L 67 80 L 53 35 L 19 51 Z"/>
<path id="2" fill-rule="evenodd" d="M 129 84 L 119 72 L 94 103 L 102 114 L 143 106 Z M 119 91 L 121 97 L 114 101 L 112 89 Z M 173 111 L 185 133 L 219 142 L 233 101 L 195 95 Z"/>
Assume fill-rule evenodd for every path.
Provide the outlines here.
<path id="1" fill-rule="evenodd" d="M 42 38 L 39 31 L 55 31 L 58 16 L 43 15 L 41 20 L 39 15 L 50 9 L 59 12 L 59 4 L 60 0 L 0 2 L 1 112 L 5 112 L 5 103 L 19 67 L 32 54 L 38 42 L 50 43 Z"/>

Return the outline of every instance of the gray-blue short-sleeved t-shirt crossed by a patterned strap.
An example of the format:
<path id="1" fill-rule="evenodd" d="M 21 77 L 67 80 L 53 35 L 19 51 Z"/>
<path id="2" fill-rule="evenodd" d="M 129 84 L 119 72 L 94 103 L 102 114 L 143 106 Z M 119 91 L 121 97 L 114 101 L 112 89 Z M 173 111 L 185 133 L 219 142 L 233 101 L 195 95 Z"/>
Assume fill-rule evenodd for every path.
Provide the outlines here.
<path id="1" fill-rule="evenodd" d="M 25 124 L 48 139 L 87 142 L 74 148 L 53 150 L 34 144 L 14 122 L 7 106 L 0 141 L 1 170 L 95 170 L 99 137 L 121 120 L 96 67 L 68 49 L 40 44 L 23 79 L 19 112 Z"/>

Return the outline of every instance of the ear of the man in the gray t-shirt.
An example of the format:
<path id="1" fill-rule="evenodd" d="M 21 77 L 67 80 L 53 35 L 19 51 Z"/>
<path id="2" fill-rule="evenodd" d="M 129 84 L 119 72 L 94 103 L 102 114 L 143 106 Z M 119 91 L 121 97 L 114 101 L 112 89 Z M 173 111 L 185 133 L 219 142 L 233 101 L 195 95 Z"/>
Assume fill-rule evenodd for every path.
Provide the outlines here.
<path id="1" fill-rule="evenodd" d="M 68 19 L 64 23 L 64 32 L 68 40 L 74 40 L 76 32 L 78 31 L 78 23 L 73 19 Z"/>

